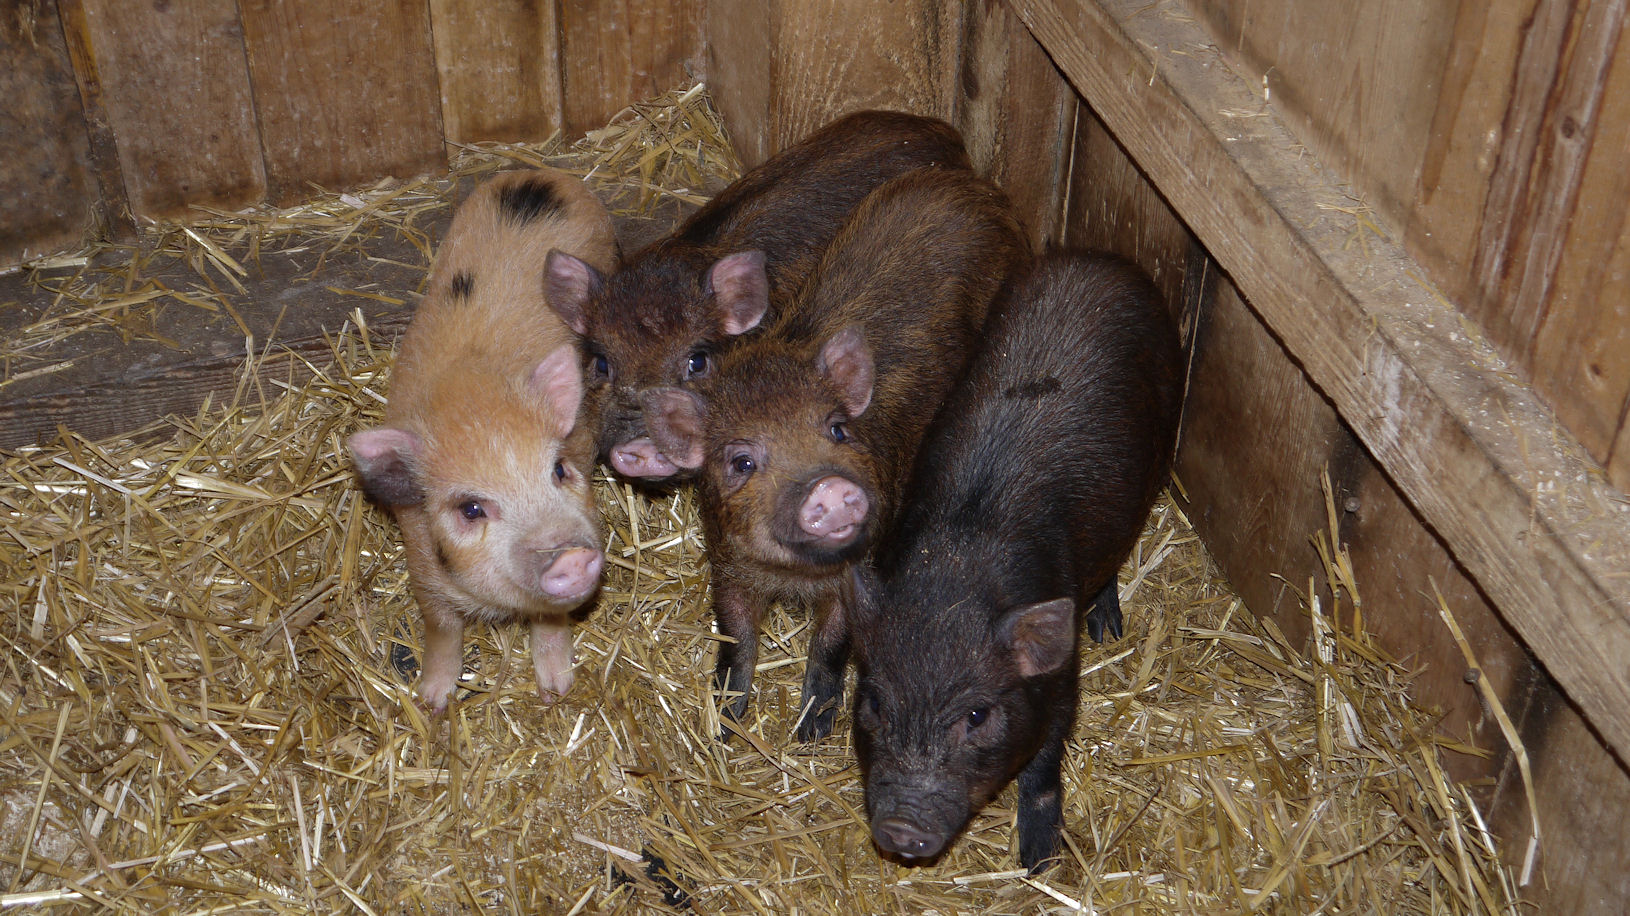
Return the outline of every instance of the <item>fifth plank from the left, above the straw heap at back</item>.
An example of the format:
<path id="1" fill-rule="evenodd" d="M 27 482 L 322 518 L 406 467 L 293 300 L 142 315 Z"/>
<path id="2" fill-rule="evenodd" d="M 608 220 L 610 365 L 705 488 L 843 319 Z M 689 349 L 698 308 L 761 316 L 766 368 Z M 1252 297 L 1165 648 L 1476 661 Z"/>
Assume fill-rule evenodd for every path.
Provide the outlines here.
<path id="1" fill-rule="evenodd" d="M 632 101 L 689 81 L 703 0 L 574 0 L 561 5 L 566 129 L 600 127 Z"/>

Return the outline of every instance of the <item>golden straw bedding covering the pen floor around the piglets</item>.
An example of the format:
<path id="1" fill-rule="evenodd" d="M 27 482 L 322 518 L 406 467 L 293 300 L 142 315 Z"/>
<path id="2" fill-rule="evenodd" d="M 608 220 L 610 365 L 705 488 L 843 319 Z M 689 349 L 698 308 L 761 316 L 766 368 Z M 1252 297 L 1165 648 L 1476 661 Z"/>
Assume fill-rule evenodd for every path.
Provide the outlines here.
<path id="1" fill-rule="evenodd" d="M 597 143 L 471 150 L 460 170 L 564 163 L 637 210 L 660 199 L 652 184 L 694 196 L 734 168 L 696 90 Z M 350 230 L 302 228 L 321 200 L 217 215 L 176 256 L 352 243 L 404 225 L 393 200 L 445 207 L 450 186 L 377 192 L 393 199 L 363 200 L 355 218 L 373 222 Z M 848 716 L 825 742 L 791 740 L 799 608 L 764 624 L 747 733 L 712 738 L 717 637 L 688 492 L 600 481 L 608 575 L 564 701 L 540 701 L 523 629 L 471 628 L 456 704 L 427 719 L 399 539 L 342 448 L 378 422 L 390 365 L 390 341 L 352 324 L 324 365 L 248 365 L 230 404 L 0 453 L 0 905 L 1516 911 L 1431 714 L 1405 699 L 1408 672 L 1355 629 L 1340 551 L 1320 584 L 1335 606 L 1302 606 L 1322 639 L 1291 645 L 1229 593 L 1170 500 L 1121 575 L 1126 637 L 1084 652 L 1068 856 L 1042 877 L 1009 849 L 1011 790 L 942 862 L 879 859 Z"/>

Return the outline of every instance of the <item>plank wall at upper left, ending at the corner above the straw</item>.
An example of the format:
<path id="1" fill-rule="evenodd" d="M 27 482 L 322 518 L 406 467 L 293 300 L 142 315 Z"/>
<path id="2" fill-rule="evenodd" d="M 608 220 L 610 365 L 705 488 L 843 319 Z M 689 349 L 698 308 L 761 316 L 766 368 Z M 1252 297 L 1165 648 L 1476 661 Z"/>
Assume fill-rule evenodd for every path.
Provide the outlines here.
<path id="1" fill-rule="evenodd" d="M 689 81 L 701 0 L 0 5 L 0 269 L 88 228 L 287 204 Z"/>

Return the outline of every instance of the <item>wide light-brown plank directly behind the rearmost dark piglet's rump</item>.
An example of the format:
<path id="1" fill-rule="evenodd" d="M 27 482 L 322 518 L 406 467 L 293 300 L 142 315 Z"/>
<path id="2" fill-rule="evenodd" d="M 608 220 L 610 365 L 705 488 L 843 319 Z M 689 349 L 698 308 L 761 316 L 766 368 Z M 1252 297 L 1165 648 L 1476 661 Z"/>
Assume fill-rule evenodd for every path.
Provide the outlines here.
<path id="1" fill-rule="evenodd" d="M 955 116 L 962 3 L 779 3 L 771 96 L 774 148 L 867 108 Z"/>

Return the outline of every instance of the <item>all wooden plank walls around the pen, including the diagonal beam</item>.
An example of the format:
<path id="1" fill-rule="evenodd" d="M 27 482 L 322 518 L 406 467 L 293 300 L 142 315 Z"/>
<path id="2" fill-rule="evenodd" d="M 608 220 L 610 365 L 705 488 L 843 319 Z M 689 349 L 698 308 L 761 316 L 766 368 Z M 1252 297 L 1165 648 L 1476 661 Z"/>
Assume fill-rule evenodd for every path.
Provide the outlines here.
<path id="1" fill-rule="evenodd" d="M 1327 469 L 1366 619 L 1425 663 L 1444 729 L 1495 751 L 1451 764 L 1487 779 L 1506 838 L 1526 804 L 1467 676 L 1522 730 L 1545 828 L 1531 896 L 1612 913 L 1630 898 L 1623 20 L 1622 0 L 16 0 L 0 266 L 98 222 L 579 132 L 689 77 L 750 163 L 857 108 L 947 117 L 1038 243 L 1125 253 L 1167 292 L 1192 365 L 1177 473 L 1245 601 L 1304 632 L 1275 575 L 1317 570 Z M 1387 311 L 1395 288 L 1444 326 Z M 1552 412 L 1514 406 L 1529 394 Z M 1581 518 L 1579 494 L 1606 509 Z"/>

